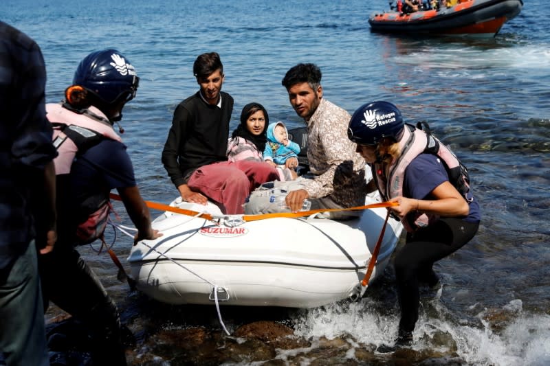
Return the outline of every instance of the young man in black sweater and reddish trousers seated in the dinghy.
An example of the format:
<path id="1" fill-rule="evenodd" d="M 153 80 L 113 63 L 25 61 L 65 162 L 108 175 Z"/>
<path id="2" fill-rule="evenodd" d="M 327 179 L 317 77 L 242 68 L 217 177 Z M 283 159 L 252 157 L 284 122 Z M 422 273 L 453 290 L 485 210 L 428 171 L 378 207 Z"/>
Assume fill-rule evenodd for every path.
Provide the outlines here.
<path id="1" fill-rule="evenodd" d="M 221 91 L 219 54 L 198 56 L 193 73 L 200 89 L 176 107 L 162 163 L 184 201 L 206 205 L 210 198 L 224 214 L 243 214 L 250 192 L 278 173 L 260 161 L 228 161 L 233 98 Z"/>

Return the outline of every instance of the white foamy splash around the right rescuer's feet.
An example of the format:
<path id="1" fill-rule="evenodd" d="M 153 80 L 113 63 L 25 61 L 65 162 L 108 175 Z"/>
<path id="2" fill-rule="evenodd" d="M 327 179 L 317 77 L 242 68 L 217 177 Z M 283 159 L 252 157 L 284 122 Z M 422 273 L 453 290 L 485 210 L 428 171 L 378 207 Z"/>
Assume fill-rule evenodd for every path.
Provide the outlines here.
<path id="1" fill-rule="evenodd" d="M 478 315 L 479 323 L 472 324 L 472 321 L 452 320 L 452 314 L 437 299 L 428 302 L 438 312 L 437 317 L 421 314 L 412 348 L 450 353 L 447 343 L 434 341 L 437 334 L 446 334 L 454 341 L 456 354 L 469 365 L 550 364 L 550 316 L 522 312 L 520 300 L 503 307 L 503 312 L 515 318 L 498 332 L 483 319 L 485 312 Z M 334 339 L 349 334 L 358 343 L 393 344 L 398 321 L 398 314 L 393 312 L 380 314 L 379 306 L 373 309 L 364 303 L 333 304 L 308 310 L 296 323 L 295 334 L 307 339 L 322 336 Z"/>

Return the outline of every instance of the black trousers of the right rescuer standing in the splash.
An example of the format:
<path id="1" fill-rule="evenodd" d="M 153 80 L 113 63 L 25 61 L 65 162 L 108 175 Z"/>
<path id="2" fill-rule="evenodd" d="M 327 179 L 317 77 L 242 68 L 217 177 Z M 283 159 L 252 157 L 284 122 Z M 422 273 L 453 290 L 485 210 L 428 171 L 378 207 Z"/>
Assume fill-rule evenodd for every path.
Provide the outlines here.
<path id="1" fill-rule="evenodd" d="M 477 232 L 479 223 L 441 218 L 429 227 L 408 233 L 406 244 L 394 261 L 401 321 L 399 330 L 412 332 L 418 320 L 419 279 L 429 276 L 434 262 L 463 247 Z"/>

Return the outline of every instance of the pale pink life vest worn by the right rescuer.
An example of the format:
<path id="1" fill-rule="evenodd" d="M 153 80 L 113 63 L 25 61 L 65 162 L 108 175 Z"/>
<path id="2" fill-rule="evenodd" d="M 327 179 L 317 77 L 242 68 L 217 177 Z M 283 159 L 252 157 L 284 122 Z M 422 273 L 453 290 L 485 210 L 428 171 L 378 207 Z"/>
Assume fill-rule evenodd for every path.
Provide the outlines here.
<path id="1" fill-rule="evenodd" d="M 467 169 L 454 155 L 452 150 L 442 144 L 437 137 L 434 137 L 429 132 L 426 133 L 420 128 L 405 124 L 403 135 L 398 143 L 401 155 L 391 164 L 388 170 L 389 179 L 387 181 L 380 163 L 375 163 L 372 167 L 373 176 L 376 179 L 375 183 L 386 201 L 390 198 L 403 196 L 405 170 L 413 159 L 423 153 L 439 157 L 443 161 L 450 183 L 464 196 L 466 201 L 471 201 L 471 198 L 467 196 L 468 192 L 470 192 L 470 177 Z M 409 213 L 401 219 L 401 223 L 406 231 L 413 232 L 437 220 L 439 220 L 438 215 L 417 212 L 415 214 Z"/>

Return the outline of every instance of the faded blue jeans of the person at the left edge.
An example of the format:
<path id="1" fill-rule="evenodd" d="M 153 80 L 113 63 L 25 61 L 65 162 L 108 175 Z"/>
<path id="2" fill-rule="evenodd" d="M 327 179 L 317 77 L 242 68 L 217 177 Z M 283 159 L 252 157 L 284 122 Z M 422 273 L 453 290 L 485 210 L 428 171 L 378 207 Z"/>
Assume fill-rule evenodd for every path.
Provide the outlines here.
<path id="1" fill-rule="evenodd" d="M 50 365 L 34 240 L 0 270 L 0 319 L 0 365 Z"/>

